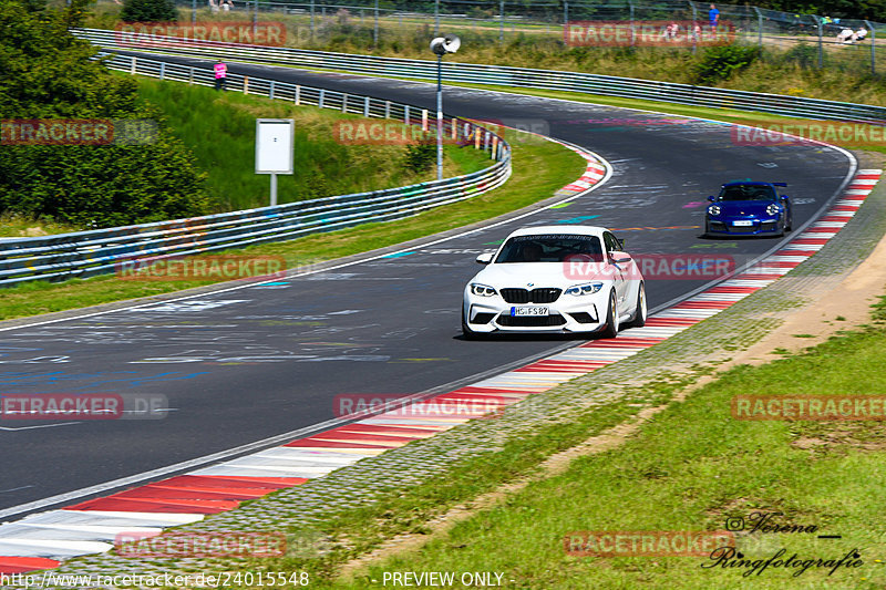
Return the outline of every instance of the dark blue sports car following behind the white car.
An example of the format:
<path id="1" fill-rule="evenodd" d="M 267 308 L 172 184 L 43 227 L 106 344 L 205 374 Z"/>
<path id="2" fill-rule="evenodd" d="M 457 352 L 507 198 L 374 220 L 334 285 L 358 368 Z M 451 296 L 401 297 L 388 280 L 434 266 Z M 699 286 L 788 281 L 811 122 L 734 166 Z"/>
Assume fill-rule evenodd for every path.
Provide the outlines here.
<path id="1" fill-rule="evenodd" d="M 705 236 L 784 236 L 791 231 L 791 198 L 779 195 L 784 183 L 727 183 L 710 196 L 704 213 Z"/>

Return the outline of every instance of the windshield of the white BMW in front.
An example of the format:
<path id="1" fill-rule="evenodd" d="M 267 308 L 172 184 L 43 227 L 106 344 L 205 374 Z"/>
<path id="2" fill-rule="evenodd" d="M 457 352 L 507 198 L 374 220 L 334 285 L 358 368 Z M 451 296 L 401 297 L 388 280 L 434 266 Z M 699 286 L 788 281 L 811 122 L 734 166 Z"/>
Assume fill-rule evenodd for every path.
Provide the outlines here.
<path id="1" fill-rule="evenodd" d="M 604 256 L 599 238 L 569 234 L 516 236 L 505 242 L 495 262 L 564 262 L 569 260 L 602 262 Z"/>

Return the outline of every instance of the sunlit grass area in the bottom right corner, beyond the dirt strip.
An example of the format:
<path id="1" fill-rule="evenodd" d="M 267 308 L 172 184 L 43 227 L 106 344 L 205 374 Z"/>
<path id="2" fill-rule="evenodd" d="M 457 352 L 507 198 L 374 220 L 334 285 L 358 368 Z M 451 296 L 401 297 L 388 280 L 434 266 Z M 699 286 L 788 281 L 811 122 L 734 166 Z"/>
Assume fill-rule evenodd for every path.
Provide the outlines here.
<path id="1" fill-rule="evenodd" d="M 508 588 L 828 588 L 886 584 L 886 433 L 882 422 L 740 421 L 730 403 L 766 395 L 872 394 L 886 391 L 886 299 L 866 329 L 761 366 L 740 365 L 673 403 L 620 447 L 585 456 L 556 477 L 530 484 L 421 550 L 374 563 L 357 581 L 317 588 L 368 588 L 384 571 L 498 571 Z M 814 377 L 813 377 L 814 375 Z M 762 387 L 761 384 L 765 384 Z M 583 429 L 577 417 L 564 434 Z M 539 442 L 539 445 L 545 446 Z M 455 485 L 452 480 L 451 485 Z M 574 531 L 722 530 L 727 518 L 782 513 L 779 524 L 815 534 L 738 534 L 745 559 L 779 549 L 801 559 L 838 559 L 858 549 L 863 565 L 833 576 L 812 568 L 702 568 L 702 557 L 576 557 Z M 839 535 L 841 539 L 818 539 Z"/>

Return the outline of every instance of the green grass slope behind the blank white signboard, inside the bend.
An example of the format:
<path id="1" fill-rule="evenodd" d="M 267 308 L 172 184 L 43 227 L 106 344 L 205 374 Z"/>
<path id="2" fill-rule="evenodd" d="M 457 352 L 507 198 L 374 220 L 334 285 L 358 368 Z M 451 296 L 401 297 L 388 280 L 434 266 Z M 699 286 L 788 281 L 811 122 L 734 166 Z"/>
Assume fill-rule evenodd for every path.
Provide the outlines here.
<path id="1" fill-rule="evenodd" d="M 354 115 L 296 106 L 237 92 L 216 92 L 179 82 L 138 77 L 142 100 L 158 106 L 167 124 L 207 172 L 207 188 L 218 210 L 238 210 L 268 204 L 269 179 L 255 173 L 256 118 L 296 122 L 295 175 L 278 176 L 278 203 L 346 195 L 405 186 L 433 179 L 404 165 L 403 145 L 346 145 L 337 141 L 336 124 Z M 481 152 L 445 146 L 446 176 L 488 166 Z"/>

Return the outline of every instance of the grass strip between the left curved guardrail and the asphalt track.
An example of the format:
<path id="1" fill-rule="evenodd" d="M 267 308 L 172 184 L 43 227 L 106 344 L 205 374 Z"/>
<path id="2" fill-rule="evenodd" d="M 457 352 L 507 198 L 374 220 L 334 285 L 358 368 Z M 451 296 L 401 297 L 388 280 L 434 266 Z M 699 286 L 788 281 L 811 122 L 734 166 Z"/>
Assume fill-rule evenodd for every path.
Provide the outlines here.
<path id="1" fill-rule="evenodd" d="M 550 197 L 585 170 L 585 161 L 571 151 L 533 138 L 513 143 L 514 172 L 502 187 L 462 203 L 398 220 L 367 224 L 298 240 L 256 246 L 250 255 L 278 255 L 287 268 L 363 252 L 488 219 Z M 487 161 L 490 162 L 490 161 Z M 215 281 L 133 281 L 113 276 L 63 283 L 35 281 L 0 290 L 0 319 L 22 318 L 97 303 L 167 293 Z"/>

